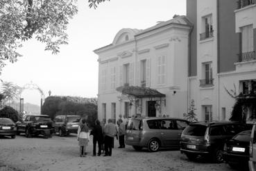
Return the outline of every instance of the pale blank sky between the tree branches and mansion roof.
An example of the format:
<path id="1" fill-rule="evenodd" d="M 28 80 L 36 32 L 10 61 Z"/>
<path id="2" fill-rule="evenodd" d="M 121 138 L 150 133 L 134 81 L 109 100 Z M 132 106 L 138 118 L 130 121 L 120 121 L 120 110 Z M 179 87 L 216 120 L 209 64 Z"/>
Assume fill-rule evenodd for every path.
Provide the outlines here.
<path id="1" fill-rule="evenodd" d="M 69 44 L 60 53 L 44 51 L 45 44 L 36 40 L 24 42 L 23 56 L 3 67 L 0 79 L 23 87 L 35 83 L 51 95 L 97 97 L 98 56 L 94 49 L 111 44 L 114 36 L 125 28 L 147 29 L 173 15 L 186 14 L 186 0 L 111 0 L 96 10 L 87 0 L 78 0 L 78 14 L 69 22 Z M 24 103 L 40 104 L 37 90 L 22 92 Z"/>

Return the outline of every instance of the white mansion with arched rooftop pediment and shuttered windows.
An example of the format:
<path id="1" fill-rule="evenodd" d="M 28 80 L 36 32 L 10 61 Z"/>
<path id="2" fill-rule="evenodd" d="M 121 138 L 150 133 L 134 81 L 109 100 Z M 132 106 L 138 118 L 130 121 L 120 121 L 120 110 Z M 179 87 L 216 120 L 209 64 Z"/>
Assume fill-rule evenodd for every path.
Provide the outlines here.
<path id="1" fill-rule="evenodd" d="M 187 17 L 178 16 L 141 31 L 121 29 L 112 44 L 96 49 L 99 120 L 120 114 L 182 117 L 188 104 L 190 30 Z M 138 93 L 122 95 L 118 87 Z"/>

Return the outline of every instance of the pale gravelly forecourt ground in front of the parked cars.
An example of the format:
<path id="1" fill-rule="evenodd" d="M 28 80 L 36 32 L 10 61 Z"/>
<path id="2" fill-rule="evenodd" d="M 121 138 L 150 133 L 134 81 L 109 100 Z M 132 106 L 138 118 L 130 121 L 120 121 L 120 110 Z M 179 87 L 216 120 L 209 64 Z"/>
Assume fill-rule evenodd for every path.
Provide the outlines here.
<path id="1" fill-rule="evenodd" d="M 231 170 L 225 163 L 191 162 L 178 150 L 149 153 L 135 152 L 132 147 L 118 149 L 115 142 L 112 156 L 92 156 L 92 140 L 88 155 L 80 158 L 75 134 L 43 139 L 17 136 L 0 138 L 0 171 L 28 170 Z"/>

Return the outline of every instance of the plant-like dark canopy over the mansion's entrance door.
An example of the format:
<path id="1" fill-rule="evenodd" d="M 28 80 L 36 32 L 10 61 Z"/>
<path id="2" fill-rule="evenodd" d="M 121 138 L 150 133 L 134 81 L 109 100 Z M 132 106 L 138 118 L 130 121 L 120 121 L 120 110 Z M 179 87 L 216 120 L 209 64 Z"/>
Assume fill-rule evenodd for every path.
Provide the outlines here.
<path id="1" fill-rule="evenodd" d="M 117 91 L 121 92 L 123 95 L 133 96 L 135 98 L 165 97 L 164 94 L 155 89 L 139 86 L 120 86 L 117 88 Z"/>

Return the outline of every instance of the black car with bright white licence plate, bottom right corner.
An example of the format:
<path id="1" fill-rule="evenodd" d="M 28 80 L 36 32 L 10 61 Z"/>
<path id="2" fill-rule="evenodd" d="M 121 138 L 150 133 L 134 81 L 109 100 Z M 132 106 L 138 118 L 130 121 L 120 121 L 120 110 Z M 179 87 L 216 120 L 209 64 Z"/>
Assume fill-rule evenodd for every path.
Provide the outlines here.
<path id="1" fill-rule="evenodd" d="M 242 131 L 225 142 L 223 158 L 231 168 L 237 168 L 239 165 L 248 166 L 250 134 L 251 130 Z"/>

